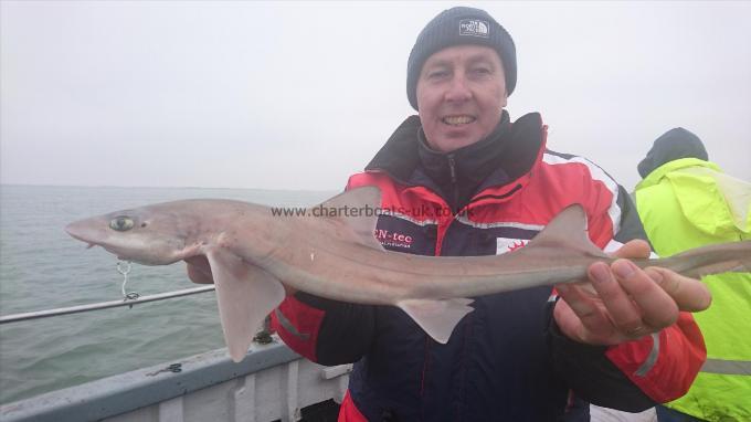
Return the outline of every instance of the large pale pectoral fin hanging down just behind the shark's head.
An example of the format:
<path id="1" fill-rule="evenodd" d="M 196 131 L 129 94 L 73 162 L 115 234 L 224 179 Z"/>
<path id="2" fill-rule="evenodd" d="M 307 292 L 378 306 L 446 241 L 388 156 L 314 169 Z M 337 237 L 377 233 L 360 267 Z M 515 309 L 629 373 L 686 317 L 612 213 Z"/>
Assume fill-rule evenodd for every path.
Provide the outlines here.
<path id="1" fill-rule="evenodd" d="M 222 249 L 207 254 L 216 286 L 224 341 L 232 360 L 243 360 L 266 315 L 284 300 L 278 279 Z"/>

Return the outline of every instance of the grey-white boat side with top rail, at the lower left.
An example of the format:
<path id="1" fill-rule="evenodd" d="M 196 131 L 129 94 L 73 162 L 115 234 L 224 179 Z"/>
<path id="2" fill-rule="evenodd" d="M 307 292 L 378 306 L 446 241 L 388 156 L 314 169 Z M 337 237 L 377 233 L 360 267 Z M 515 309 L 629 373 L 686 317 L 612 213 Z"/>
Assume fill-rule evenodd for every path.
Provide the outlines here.
<path id="1" fill-rule="evenodd" d="M 351 365 L 322 367 L 273 339 L 253 344 L 240 363 L 213 350 L 4 404 L 0 420 L 287 422 L 303 408 L 341 402 Z"/>

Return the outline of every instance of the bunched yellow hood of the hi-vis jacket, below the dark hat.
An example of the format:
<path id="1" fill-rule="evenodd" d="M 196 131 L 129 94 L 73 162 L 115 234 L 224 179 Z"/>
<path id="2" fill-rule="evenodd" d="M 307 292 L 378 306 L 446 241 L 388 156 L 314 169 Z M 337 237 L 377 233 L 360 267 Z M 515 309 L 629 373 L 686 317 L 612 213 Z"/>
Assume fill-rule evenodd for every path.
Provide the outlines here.
<path id="1" fill-rule="evenodd" d="M 751 236 L 751 183 L 722 173 L 713 162 L 681 158 L 656 168 L 642 180 L 636 186 L 637 198 L 639 191 L 660 183 L 675 191 L 665 200 L 676 199 L 686 220 L 702 233 L 728 240 Z"/>

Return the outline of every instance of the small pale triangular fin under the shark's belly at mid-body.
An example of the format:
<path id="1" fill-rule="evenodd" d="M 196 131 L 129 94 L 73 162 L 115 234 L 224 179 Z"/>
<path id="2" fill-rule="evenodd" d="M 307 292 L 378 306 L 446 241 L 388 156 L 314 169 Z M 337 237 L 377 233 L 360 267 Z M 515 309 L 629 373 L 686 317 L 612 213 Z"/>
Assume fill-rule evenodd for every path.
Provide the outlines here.
<path id="1" fill-rule="evenodd" d="M 472 299 L 406 299 L 396 303 L 435 341 L 446 344 L 454 327 L 474 310 Z"/>

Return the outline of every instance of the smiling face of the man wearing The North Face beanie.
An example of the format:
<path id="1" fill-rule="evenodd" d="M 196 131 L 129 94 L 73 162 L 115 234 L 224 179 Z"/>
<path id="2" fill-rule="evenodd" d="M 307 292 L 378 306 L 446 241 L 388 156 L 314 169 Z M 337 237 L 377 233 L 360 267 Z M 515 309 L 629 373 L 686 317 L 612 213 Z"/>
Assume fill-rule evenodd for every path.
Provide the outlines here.
<path id="1" fill-rule="evenodd" d="M 500 122 L 506 97 L 495 50 L 457 45 L 434 53 L 417 80 L 417 113 L 429 146 L 449 152 L 485 138 Z"/>

